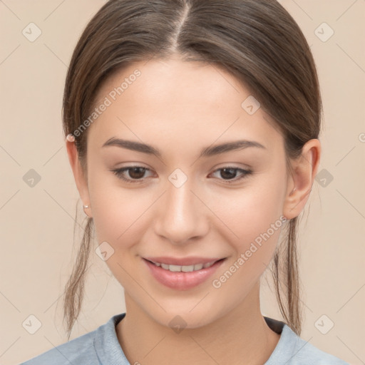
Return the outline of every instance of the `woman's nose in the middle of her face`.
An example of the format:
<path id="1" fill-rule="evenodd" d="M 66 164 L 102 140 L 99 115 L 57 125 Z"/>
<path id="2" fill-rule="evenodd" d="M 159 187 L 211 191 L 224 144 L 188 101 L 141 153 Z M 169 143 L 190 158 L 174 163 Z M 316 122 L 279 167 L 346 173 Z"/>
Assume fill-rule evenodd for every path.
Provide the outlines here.
<path id="1" fill-rule="evenodd" d="M 158 203 L 155 233 L 173 245 L 184 245 L 207 235 L 210 210 L 199 190 L 189 179 L 180 187 L 168 181 L 166 187 Z"/>

